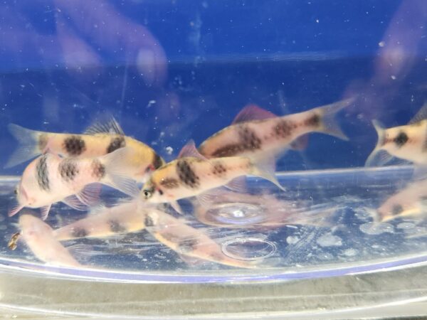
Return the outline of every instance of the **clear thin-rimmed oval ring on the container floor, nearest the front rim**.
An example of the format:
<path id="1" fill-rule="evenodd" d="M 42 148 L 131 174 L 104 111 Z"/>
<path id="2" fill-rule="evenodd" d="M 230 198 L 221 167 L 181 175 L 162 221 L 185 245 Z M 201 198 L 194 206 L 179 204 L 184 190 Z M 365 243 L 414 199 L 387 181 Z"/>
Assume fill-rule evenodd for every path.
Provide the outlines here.
<path id="1" fill-rule="evenodd" d="M 277 248 L 271 241 L 259 238 L 237 238 L 224 242 L 224 255 L 236 260 L 255 261 L 274 255 Z"/>

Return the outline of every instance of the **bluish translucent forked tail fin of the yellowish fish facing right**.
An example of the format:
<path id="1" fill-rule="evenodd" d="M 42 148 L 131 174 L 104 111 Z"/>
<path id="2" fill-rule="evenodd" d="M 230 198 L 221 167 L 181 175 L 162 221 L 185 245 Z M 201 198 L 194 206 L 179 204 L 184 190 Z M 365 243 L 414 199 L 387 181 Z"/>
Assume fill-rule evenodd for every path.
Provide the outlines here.
<path id="1" fill-rule="evenodd" d="M 9 124 L 7 127 L 9 132 L 18 141 L 19 145 L 16 147 L 16 150 L 11 155 L 4 168 L 11 168 L 12 166 L 21 164 L 41 154 L 40 149 L 38 149 L 38 141 L 41 132 L 26 129 L 13 123 Z"/>

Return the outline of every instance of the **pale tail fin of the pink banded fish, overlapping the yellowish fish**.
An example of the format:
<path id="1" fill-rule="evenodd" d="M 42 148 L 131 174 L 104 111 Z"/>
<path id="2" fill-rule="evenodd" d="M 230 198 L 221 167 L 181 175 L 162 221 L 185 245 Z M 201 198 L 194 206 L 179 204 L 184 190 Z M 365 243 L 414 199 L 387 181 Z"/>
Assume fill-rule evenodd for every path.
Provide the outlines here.
<path id="1" fill-rule="evenodd" d="M 127 159 L 132 156 L 132 153 L 132 149 L 127 147 L 117 149 L 100 157 L 102 164 L 105 166 L 105 176 L 100 182 L 135 198 L 139 193 L 139 189 L 126 166 Z"/>

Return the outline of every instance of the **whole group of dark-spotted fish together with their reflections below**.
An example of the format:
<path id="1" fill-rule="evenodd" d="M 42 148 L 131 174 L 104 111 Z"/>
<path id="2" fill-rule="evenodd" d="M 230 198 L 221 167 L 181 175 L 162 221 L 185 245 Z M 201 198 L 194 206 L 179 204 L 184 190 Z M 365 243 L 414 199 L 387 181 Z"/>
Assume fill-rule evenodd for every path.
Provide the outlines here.
<path id="1" fill-rule="evenodd" d="M 38 132 L 9 125 L 19 142 L 6 166 L 33 159 L 16 187 L 16 205 L 9 215 L 24 208 L 40 208 L 41 219 L 28 209 L 19 217 L 19 228 L 9 243 L 14 249 L 23 239 L 39 260 L 60 266 L 80 263 L 60 242 L 78 238 L 106 238 L 120 233 L 147 230 L 156 240 L 174 250 L 183 260 L 196 258 L 233 267 L 257 267 L 251 262 L 228 257 L 221 246 L 203 230 L 192 228 L 184 218 L 174 218 L 165 206 L 184 214 L 178 201 L 193 199 L 199 221 L 209 220 L 209 210 L 227 203 L 246 203 L 264 210 L 266 218 L 238 228 L 274 228 L 285 224 L 327 226 L 331 210 L 314 210 L 302 215 L 273 196 L 246 192 L 246 176 L 264 178 L 281 191 L 275 177 L 275 161 L 288 149 L 301 149 L 307 134 L 320 132 L 347 140 L 335 115 L 352 105 L 355 98 L 340 100 L 312 110 L 278 117 L 255 105 L 248 105 L 234 122 L 196 147 L 188 142 L 179 156 L 166 163 L 154 149 L 125 136 L 115 119 L 95 122 L 83 134 Z M 384 165 L 392 159 L 411 161 L 416 181 L 379 206 L 377 223 L 404 216 L 422 216 L 427 192 L 423 166 L 427 165 L 427 104 L 406 126 L 374 128 L 378 141 L 366 165 Z M 139 189 L 138 183 L 142 183 Z M 116 206 L 103 206 L 101 185 L 130 196 Z M 228 191 L 227 191 L 228 189 Z M 87 218 L 52 230 L 43 220 L 54 203 L 63 202 L 76 210 L 90 210 Z M 170 209 L 169 209 L 170 210 Z M 236 226 L 219 225 L 224 228 Z M 46 247 L 48 250 L 44 250 Z"/>

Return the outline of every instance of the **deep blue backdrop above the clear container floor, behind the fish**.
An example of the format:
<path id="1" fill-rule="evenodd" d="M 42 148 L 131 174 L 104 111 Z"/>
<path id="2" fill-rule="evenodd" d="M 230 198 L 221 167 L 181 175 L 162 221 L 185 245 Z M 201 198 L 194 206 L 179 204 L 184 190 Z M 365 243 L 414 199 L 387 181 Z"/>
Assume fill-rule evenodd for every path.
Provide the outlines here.
<path id="1" fill-rule="evenodd" d="M 110 112 L 170 160 L 248 103 L 286 114 L 358 94 L 339 114 L 349 142 L 312 134 L 278 169 L 363 166 L 371 119 L 406 124 L 426 98 L 423 0 L 38 0 L 0 11 L 0 164 L 16 147 L 11 122 L 82 132 Z"/>

